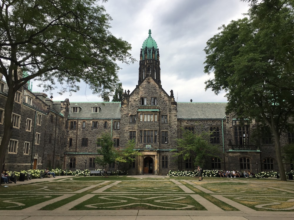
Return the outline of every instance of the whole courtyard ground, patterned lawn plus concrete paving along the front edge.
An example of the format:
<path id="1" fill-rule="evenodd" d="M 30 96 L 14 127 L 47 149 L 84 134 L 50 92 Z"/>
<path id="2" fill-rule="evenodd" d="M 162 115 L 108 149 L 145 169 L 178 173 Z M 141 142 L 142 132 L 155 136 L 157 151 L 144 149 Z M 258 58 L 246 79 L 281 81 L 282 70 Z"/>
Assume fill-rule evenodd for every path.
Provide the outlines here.
<path id="1" fill-rule="evenodd" d="M 1 219 L 294 219 L 293 181 L 153 175 L 116 179 L 60 176 L 1 185 Z"/>

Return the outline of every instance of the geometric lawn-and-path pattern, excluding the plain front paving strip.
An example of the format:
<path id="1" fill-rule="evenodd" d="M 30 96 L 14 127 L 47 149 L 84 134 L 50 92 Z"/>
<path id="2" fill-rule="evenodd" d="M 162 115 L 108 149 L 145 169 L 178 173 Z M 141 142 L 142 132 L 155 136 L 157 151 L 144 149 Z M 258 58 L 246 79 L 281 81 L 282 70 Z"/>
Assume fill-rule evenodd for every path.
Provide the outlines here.
<path id="1" fill-rule="evenodd" d="M 206 177 L 200 182 L 197 177 L 164 176 L 122 179 L 64 177 L 1 186 L 0 210 L 294 211 L 290 181 Z"/>

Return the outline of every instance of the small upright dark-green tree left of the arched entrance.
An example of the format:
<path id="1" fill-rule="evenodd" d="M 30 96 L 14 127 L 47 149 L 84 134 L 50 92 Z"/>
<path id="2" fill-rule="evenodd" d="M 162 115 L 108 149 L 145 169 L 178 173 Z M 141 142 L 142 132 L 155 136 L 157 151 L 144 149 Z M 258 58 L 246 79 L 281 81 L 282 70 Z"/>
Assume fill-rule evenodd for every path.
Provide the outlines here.
<path id="1" fill-rule="evenodd" d="M 97 156 L 95 162 L 106 168 L 109 164 L 115 162 L 117 155 L 116 150 L 113 147 L 111 135 L 109 133 L 103 133 L 101 137 L 97 139 L 97 144 L 101 146 L 101 149 L 97 150 L 98 154 L 101 156 Z"/>

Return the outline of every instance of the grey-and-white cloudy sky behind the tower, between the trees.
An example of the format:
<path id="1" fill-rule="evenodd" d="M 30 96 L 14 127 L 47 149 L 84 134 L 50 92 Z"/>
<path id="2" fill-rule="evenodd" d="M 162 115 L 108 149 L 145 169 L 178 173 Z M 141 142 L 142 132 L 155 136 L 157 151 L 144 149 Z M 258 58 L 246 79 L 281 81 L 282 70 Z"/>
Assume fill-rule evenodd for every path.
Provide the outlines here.
<path id="1" fill-rule="evenodd" d="M 161 85 L 178 102 L 226 102 L 225 93 L 215 95 L 205 91 L 206 75 L 203 49 L 206 42 L 218 33 L 218 27 L 231 20 L 243 18 L 248 3 L 239 0 L 108 0 L 105 6 L 112 17 L 111 32 L 132 45 L 131 54 L 140 59 L 144 40 L 151 36 L 160 54 Z M 125 65 L 118 72 L 123 90 L 133 91 L 138 84 L 139 63 Z M 33 91 L 39 88 L 34 87 Z M 49 95 L 49 94 L 48 94 Z M 50 95 L 49 95 L 50 96 Z M 72 102 L 102 101 L 86 85 L 72 96 L 53 93 L 54 100 L 69 98 Z"/>

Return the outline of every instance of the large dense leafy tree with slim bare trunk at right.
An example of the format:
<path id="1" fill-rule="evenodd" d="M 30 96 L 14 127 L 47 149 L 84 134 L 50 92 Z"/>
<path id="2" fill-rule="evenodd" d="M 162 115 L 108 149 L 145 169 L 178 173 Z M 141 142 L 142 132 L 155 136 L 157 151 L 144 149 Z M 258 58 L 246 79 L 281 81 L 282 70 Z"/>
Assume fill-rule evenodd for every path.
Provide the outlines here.
<path id="1" fill-rule="evenodd" d="M 228 112 L 262 118 L 275 138 L 281 180 L 286 181 L 280 135 L 294 108 L 294 2 L 249 1 L 248 17 L 219 28 L 204 49 L 206 89 L 227 92 Z"/>

